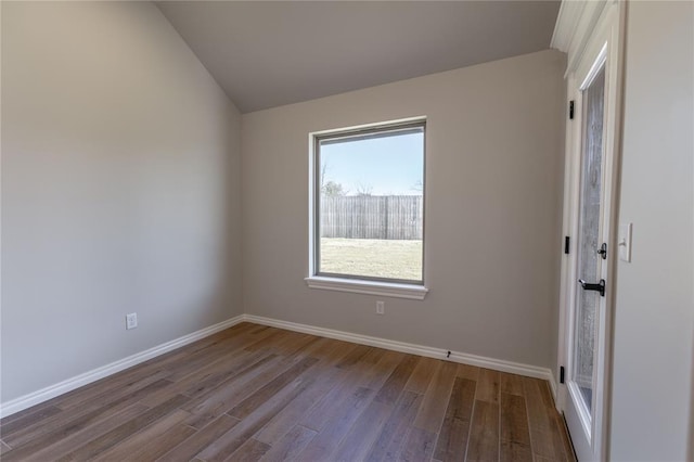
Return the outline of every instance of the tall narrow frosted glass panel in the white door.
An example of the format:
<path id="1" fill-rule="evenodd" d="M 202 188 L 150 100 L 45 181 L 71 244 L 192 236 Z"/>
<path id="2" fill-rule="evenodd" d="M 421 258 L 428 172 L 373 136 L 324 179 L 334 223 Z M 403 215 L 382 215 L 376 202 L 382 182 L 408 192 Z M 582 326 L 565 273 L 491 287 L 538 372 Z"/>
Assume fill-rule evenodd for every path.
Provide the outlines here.
<path id="1" fill-rule="evenodd" d="M 581 196 L 578 235 L 578 275 L 596 283 L 601 279 L 602 257 L 597 254 L 602 198 L 603 118 L 605 100 L 605 70 L 595 76 L 583 91 L 583 152 L 581 159 Z M 592 414 L 593 367 L 595 358 L 596 319 L 600 293 L 578 288 L 576 304 L 576 332 L 574 335 L 574 381 L 581 399 Z"/>

